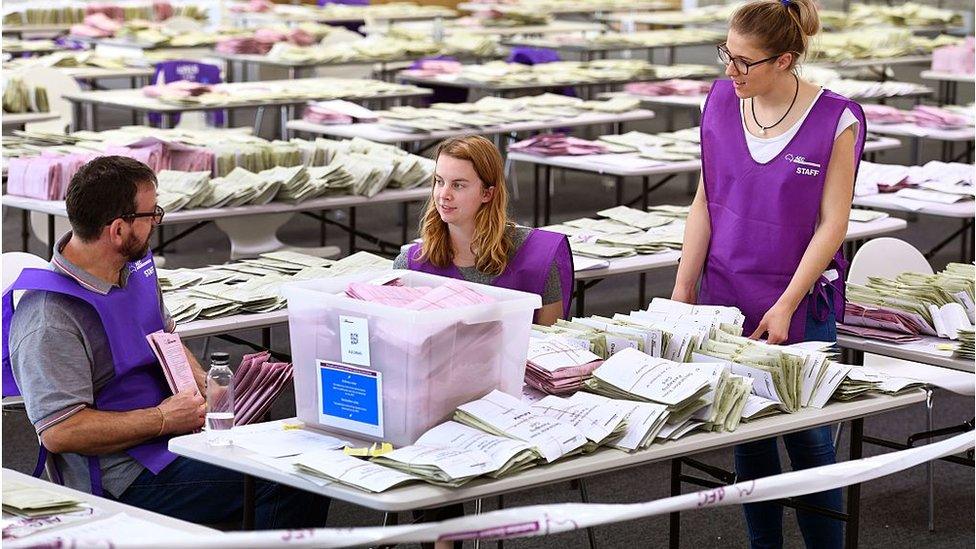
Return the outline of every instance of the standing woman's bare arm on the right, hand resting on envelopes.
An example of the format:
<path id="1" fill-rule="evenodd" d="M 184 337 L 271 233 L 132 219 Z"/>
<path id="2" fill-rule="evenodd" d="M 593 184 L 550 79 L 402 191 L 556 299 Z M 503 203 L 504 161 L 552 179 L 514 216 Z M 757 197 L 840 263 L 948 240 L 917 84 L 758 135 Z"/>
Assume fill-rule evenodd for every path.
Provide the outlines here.
<path id="1" fill-rule="evenodd" d="M 750 336 L 758 339 L 769 333 L 769 343 L 786 341 L 790 330 L 790 320 L 806 297 L 810 288 L 823 274 L 837 249 L 847 236 L 847 223 L 851 213 L 851 197 L 854 196 L 854 132 L 857 126 L 847 128 L 834 141 L 830 164 L 827 165 L 827 180 L 824 183 L 823 198 L 820 201 L 820 225 L 810 244 L 807 245 L 800 265 L 790 280 L 786 291 L 763 315 L 759 327 Z"/>

